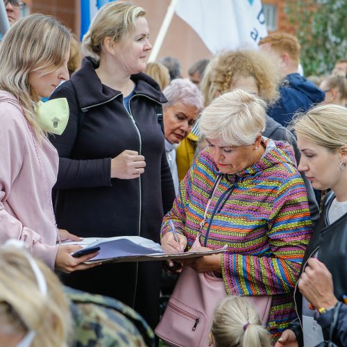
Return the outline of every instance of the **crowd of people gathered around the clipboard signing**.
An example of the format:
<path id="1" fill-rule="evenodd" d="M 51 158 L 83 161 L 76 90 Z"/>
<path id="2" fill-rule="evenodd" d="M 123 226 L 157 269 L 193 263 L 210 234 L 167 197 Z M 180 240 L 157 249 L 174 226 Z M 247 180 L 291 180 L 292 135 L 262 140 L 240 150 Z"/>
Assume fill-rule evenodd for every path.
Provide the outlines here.
<path id="1" fill-rule="evenodd" d="M 177 58 L 146 63 L 139 6 L 106 4 L 80 44 L 4 4 L 0 346 L 158 346 L 163 269 L 171 291 L 185 269 L 221 284 L 196 346 L 347 346 L 346 60 L 305 78 L 298 39 L 273 33 L 183 78 Z M 223 252 L 72 255 L 83 237 L 122 236 Z M 180 315 L 173 332 L 201 333 Z"/>

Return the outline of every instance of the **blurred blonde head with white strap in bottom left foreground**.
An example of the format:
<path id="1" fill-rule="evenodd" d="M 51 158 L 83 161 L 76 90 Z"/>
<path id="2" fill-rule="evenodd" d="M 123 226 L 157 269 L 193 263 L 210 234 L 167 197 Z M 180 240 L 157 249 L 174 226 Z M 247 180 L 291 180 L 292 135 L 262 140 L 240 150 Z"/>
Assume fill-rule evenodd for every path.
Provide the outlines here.
<path id="1" fill-rule="evenodd" d="M 18 248 L 0 248 L 0 332 L 24 335 L 33 330 L 32 347 L 67 346 L 72 323 L 62 285 L 35 260 L 46 280 L 47 294 L 42 294 L 28 257 Z"/>

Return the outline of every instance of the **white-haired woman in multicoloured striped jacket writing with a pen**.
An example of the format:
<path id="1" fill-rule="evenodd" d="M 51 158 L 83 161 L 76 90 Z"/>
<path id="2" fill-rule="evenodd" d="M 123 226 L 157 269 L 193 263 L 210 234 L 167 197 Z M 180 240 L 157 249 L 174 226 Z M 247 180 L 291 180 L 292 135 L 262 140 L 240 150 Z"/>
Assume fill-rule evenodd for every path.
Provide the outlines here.
<path id="1" fill-rule="evenodd" d="M 198 234 L 202 248 L 227 244 L 222 255 L 182 262 L 223 276 L 228 294 L 273 296 L 266 328 L 276 339 L 295 317 L 292 291 L 311 222 L 293 149 L 262 137 L 265 123 L 264 101 L 243 90 L 219 96 L 203 111 L 200 130 L 208 148 L 164 217 L 162 247 L 189 249 Z"/>

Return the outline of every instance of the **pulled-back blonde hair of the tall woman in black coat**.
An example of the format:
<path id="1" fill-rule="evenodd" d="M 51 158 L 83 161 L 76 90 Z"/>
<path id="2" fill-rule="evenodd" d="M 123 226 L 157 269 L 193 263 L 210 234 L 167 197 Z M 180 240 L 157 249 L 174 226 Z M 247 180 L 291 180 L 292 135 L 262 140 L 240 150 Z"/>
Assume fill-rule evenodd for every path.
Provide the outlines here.
<path id="1" fill-rule="evenodd" d="M 114 42 L 119 42 L 124 37 L 130 37 L 135 33 L 137 17 L 145 14 L 143 8 L 131 3 L 106 3 L 96 13 L 89 30 L 83 36 L 83 54 L 99 61 L 105 38 L 111 37 Z"/>

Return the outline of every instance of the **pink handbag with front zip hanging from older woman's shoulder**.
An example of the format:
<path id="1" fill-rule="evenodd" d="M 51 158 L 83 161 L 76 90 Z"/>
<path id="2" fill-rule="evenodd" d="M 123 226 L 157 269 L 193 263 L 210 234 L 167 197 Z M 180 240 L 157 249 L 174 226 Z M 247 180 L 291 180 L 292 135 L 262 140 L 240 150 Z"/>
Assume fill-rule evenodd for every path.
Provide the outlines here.
<path id="1" fill-rule="evenodd" d="M 222 278 L 184 266 L 155 334 L 169 346 L 208 346 L 214 310 L 226 296 Z M 259 312 L 262 325 L 266 325 L 272 296 L 246 298 Z"/>

